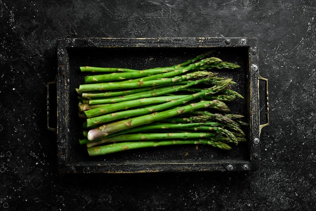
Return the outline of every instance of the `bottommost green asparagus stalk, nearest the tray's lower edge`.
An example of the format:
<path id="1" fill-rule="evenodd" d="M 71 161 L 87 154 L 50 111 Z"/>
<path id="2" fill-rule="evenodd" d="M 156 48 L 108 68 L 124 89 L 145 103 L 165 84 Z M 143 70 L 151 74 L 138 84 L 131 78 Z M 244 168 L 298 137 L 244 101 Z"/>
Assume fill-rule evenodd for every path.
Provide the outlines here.
<path id="1" fill-rule="evenodd" d="M 145 148 L 145 147 L 156 147 L 156 146 L 169 146 L 169 145 L 183 145 L 183 144 L 207 144 L 220 149 L 229 150 L 231 147 L 220 141 L 213 140 L 165 140 L 165 141 L 136 141 L 136 142 L 120 142 L 102 146 L 94 146 L 87 148 L 89 156 L 97 156 L 110 154 L 125 150 Z"/>

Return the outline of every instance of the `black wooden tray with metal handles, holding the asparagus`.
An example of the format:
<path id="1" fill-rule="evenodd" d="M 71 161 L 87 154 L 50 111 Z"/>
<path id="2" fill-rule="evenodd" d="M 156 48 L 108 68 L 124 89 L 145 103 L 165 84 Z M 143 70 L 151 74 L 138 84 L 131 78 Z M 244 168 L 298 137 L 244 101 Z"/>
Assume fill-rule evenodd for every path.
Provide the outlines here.
<path id="1" fill-rule="evenodd" d="M 229 104 L 233 113 L 249 123 L 248 141 L 223 151 L 209 146 L 185 145 L 144 148 L 89 157 L 78 140 L 82 121 L 78 117 L 75 88 L 83 82 L 80 66 L 147 69 L 171 66 L 216 49 L 214 56 L 241 65 L 237 71 L 220 71 L 238 83 L 234 89 L 245 100 Z M 268 80 L 258 70 L 256 38 L 75 38 L 57 41 L 57 146 L 60 173 L 143 173 L 193 171 L 250 171 L 259 168 L 260 130 L 269 124 Z M 260 125 L 259 80 L 266 82 L 268 123 Z M 51 84 L 51 83 L 49 83 Z M 47 84 L 47 87 L 49 87 Z M 48 89 L 48 88 L 47 88 Z M 48 93 L 48 92 L 47 92 Z M 264 94 L 265 95 L 265 94 Z M 47 103 L 51 99 L 47 96 Z M 49 108 L 48 108 L 49 109 Z M 50 108 L 51 110 L 51 108 Z M 48 120 L 52 118 L 48 112 Z M 47 122 L 49 122 L 47 120 Z M 48 126 L 49 129 L 52 129 Z M 52 129 L 54 130 L 54 128 Z"/>

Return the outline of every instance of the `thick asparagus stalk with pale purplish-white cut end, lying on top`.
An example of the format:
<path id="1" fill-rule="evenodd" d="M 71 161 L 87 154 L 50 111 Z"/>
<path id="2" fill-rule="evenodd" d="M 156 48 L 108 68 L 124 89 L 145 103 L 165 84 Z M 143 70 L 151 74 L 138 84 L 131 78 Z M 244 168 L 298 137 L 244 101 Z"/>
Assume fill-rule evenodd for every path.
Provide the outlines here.
<path id="1" fill-rule="evenodd" d="M 209 107 L 226 107 L 226 105 L 225 103 L 219 100 L 191 103 L 191 104 L 184 105 L 179 108 L 170 109 L 167 111 L 151 113 L 148 115 L 138 116 L 134 118 L 129 118 L 127 120 L 121 120 L 118 122 L 110 123 L 108 125 L 102 125 L 98 128 L 89 130 L 87 138 L 90 141 L 95 140 L 97 138 L 106 137 L 107 135 L 115 133 L 115 132 L 127 130 L 129 128 L 149 124 L 152 122 L 157 122 L 166 118 L 178 116 L 180 114 L 185 114 L 191 111 L 199 110 L 202 108 L 209 108 Z"/>

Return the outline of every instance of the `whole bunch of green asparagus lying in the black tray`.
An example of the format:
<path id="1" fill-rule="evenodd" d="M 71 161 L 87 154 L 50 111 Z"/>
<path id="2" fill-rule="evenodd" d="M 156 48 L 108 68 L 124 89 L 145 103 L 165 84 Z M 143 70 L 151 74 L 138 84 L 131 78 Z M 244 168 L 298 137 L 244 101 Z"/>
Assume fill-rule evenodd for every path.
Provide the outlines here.
<path id="1" fill-rule="evenodd" d="M 240 66 L 210 57 L 146 70 L 80 67 L 77 88 L 83 139 L 90 156 L 175 144 L 207 144 L 231 149 L 245 141 L 243 116 L 225 102 L 243 98 L 231 78 L 214 70 Z"/>

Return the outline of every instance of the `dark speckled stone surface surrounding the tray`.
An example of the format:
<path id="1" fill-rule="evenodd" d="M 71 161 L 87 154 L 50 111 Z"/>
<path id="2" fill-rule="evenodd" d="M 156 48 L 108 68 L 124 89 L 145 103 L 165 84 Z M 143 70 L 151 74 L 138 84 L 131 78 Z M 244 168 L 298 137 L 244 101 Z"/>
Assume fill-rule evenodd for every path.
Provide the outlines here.
<path id="1" fill-rule="evenodd" d="M 315 11 L 313 0 L 0 0 L 0 209 L 315 209 Z M 98 36 L 257 37 L 270 85 L 260 170 L 58 175 L 46 129 L 56 40 Z"/>

